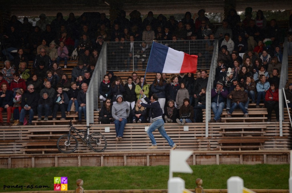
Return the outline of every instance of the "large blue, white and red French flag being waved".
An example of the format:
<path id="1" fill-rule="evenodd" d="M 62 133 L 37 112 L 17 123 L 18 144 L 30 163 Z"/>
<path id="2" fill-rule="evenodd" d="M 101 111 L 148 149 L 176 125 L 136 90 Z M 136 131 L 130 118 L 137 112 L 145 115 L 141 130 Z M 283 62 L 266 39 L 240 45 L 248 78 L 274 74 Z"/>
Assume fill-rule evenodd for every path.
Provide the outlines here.
<path id="1" fill-rule="evenodd" d="M 197 55 L 189 55 L 153 42 L 146 72 L 196 73 Z"/>

